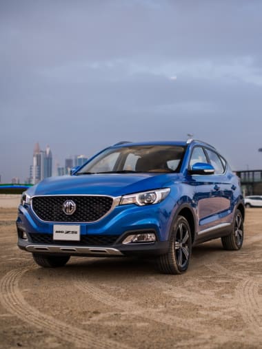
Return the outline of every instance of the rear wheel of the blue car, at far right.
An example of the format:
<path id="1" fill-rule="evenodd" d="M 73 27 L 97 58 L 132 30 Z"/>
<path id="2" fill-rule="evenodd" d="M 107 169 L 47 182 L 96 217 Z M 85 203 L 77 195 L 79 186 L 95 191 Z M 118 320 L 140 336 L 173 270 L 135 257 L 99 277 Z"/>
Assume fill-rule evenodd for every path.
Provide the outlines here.
<path id="1" fill-rule="evenodd" d="M 221 237 L 223 248 L 228 251 L 236 251 L 242 247 L 244 237 L 243 217 L 241 211 L 236 210 L 233 229 L 230 235 Z"/>

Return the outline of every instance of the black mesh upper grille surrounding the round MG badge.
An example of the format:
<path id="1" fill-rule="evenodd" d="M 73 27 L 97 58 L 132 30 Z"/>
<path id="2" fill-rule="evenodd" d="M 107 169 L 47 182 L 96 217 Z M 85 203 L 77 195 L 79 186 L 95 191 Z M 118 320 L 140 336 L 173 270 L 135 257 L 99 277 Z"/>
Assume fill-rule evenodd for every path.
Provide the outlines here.
<path id="1" fill-rule="evenodd" d="M 72 215 L 63 212 L 66 200 L 76 204 Z M 95 222 L 110 211 L 112 203 L 108 196 L 36 196 L 32 198 L 32 209 L 46 222 Z"/>

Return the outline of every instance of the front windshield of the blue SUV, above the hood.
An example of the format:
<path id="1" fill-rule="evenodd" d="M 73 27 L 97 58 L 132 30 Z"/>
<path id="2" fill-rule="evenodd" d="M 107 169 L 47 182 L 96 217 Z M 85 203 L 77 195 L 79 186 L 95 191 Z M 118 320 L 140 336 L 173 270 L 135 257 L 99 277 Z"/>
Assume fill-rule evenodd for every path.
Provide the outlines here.
<path id="1" fill-rule="evenodd" d="M 92 159 L 77 175 L 92 173 L 177 172 L 185 147 L 136 145 L 110 148 Z"/>

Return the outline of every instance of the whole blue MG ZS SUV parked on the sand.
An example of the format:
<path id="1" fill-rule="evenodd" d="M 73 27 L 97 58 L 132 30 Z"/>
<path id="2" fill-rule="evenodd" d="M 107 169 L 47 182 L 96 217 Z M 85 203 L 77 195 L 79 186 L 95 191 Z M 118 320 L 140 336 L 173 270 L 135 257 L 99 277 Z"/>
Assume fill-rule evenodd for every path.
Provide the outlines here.
<path id="1" fill-rule="evenodd" d="M 239 250 L 244 215 L 239 178 L 211 145 L 120 142 L 23 193 L 18 246 L 43 267 L 147 255 L 162 273 L 180 274 L 196 244 L 221 237 Z"/>

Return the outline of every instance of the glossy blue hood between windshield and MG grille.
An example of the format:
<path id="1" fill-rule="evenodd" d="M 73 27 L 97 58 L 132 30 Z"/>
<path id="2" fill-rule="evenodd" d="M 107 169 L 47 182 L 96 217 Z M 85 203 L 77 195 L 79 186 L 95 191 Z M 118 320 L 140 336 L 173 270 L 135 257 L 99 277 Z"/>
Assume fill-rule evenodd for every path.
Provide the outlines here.
<path id="1" fill-rule="evenodd" d="M 121 196 L 139 191 L 169 187 L 177 173 L 92 174 L 51 177 L 28 189 L 29 195 L 112 195 Z"/>

